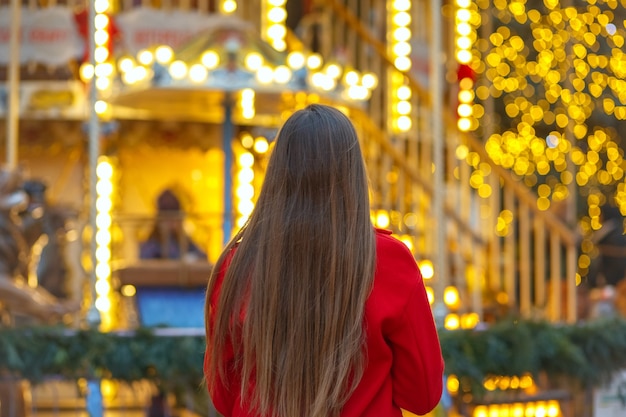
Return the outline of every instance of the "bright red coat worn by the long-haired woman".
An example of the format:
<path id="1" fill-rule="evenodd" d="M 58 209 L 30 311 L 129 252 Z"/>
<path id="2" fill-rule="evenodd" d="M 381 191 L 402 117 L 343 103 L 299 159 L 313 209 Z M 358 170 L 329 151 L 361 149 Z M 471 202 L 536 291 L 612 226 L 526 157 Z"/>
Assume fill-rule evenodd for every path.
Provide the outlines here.
<path id="1" fill-rule="evenodd" d="M 368 363 L 341 417 L 401 417 L 400 409 L 426 414 L 441 398 L 444 363 L 422 276 L 408 248 L 390 234 L 376 233 L 376 275 L 365 304 Z M 220 284 L 211 296 L 214 308 Z M 232 391 L 209 392 L 213 404 L 225 417 L 250 417 L 233 378 Z"/>

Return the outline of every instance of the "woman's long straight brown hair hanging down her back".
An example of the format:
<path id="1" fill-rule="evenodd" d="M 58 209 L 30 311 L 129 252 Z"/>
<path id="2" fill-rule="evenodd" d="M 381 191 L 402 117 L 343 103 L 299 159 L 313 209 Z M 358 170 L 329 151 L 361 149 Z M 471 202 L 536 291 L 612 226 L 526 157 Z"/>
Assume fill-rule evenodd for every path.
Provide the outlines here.
<path id="1" fill-rule="evenodd" d="M 230 250 L 215 311 L 210 297 Z M 211 276 L 207 382 L 241 375 L 260 416 L 329 417 L 360 381 L 364 305 L 375 269 L 368 181 L 357 134 L 339 110 L 311 105 L 280 130 L 259 198 Z M 243 317 L 243 320 L 240 319 Z M 237 358 L 231 369 L 224 348 Z"/>

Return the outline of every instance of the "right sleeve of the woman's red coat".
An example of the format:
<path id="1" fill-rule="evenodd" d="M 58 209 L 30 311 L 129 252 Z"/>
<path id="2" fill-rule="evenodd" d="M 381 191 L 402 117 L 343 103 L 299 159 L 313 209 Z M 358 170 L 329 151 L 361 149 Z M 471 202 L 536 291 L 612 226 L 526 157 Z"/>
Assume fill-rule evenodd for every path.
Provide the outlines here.
<path id="1" fill-rule="evenodd" d="M 387 334 L 393 352 L 393 401 L 407 411 L 426 414 L 443 390 L 441 345 L 422 276 L 415 265 L 415 285 L 403 314 Z"/>

